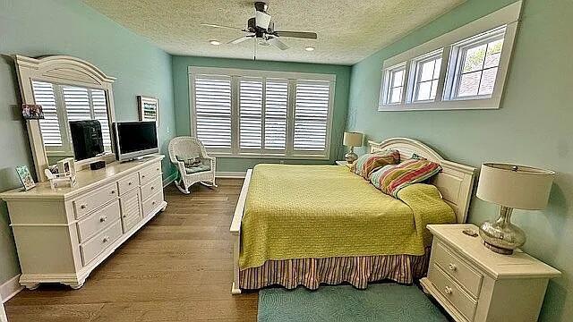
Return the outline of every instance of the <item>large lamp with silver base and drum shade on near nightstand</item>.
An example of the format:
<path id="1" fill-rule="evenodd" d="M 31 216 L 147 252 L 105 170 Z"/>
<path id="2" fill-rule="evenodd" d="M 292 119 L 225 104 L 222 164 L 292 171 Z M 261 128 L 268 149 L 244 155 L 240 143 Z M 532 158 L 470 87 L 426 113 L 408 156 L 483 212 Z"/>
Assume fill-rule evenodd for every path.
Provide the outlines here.
<path id="1" fill-rule="evenodd" d="M 476 196 L 500 205 L 500 216 L 480 227 L 483 244 L 510 255 L 526 242 L 526 233 L 511 224 L 513 208 L 540 210 L 547 206 L 555 173 L 525 165 L 484 163 Z"/>

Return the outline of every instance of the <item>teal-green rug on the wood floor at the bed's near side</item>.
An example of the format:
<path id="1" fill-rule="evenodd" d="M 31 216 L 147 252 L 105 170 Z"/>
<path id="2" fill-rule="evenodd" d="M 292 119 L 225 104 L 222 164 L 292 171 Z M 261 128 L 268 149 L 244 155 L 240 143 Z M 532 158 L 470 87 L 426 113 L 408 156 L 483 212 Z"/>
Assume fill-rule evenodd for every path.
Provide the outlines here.
<path id="1" fill-rule="evenodd" d="M 316 291 L 269 288 L 259 292 L 259 322 L 448 321 L 415 285 L 321 286 Z"/>

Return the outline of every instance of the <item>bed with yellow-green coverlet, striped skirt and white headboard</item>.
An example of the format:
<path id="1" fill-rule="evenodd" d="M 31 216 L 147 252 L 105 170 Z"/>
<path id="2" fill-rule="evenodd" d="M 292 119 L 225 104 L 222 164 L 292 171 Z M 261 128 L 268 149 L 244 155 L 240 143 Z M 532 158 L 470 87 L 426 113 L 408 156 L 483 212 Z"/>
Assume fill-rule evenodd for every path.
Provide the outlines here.
<path id="1" fill-rule="evenodd" d="M 398 199 L 340 165 L 257 165 L 247 171 L 230 232 L 232 293 L 272 284 L 286 288 L 347 282 L 412 283 L 430 256 L 429 224 L 464 223 L 475 168 L 443 159 L 417 140 L 369 141 L 370 151 L 397 149 L 442 167 L 431 184 Z"/>

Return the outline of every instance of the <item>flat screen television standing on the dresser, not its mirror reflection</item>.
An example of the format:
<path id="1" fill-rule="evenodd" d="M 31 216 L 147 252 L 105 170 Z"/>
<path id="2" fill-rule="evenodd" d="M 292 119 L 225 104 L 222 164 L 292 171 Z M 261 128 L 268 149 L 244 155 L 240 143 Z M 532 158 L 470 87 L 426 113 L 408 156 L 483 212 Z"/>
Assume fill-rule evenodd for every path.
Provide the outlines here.
<path id="1" fill-rule="evenodd" d="M 158 128 L 151 122 L 114 123 L 115 158 L 119 161 L 158 153 Z"/>

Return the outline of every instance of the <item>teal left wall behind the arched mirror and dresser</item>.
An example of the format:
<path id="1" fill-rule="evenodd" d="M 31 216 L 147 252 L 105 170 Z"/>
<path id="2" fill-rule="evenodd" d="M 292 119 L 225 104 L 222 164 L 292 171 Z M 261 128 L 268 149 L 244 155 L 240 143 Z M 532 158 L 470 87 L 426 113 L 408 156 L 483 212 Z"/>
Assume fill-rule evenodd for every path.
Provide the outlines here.
<path id="1" fill-rule="evenodd" d="M 161 150 L 175 134 L 171 56 L 75 0 L 0 0 L 0 191 L 21 186 L 16 165 L 33 169 L 28 135 L 18 114 L 13 62 L 4 55 L 73 55 L 115 76 L 118 121 L 138 117 L 136 95 L 159 98 Z M 164 163 L 165 175 L 171 170 Z M 5 203 L 0 203 L 0 284 L 19 273 Z"/>

